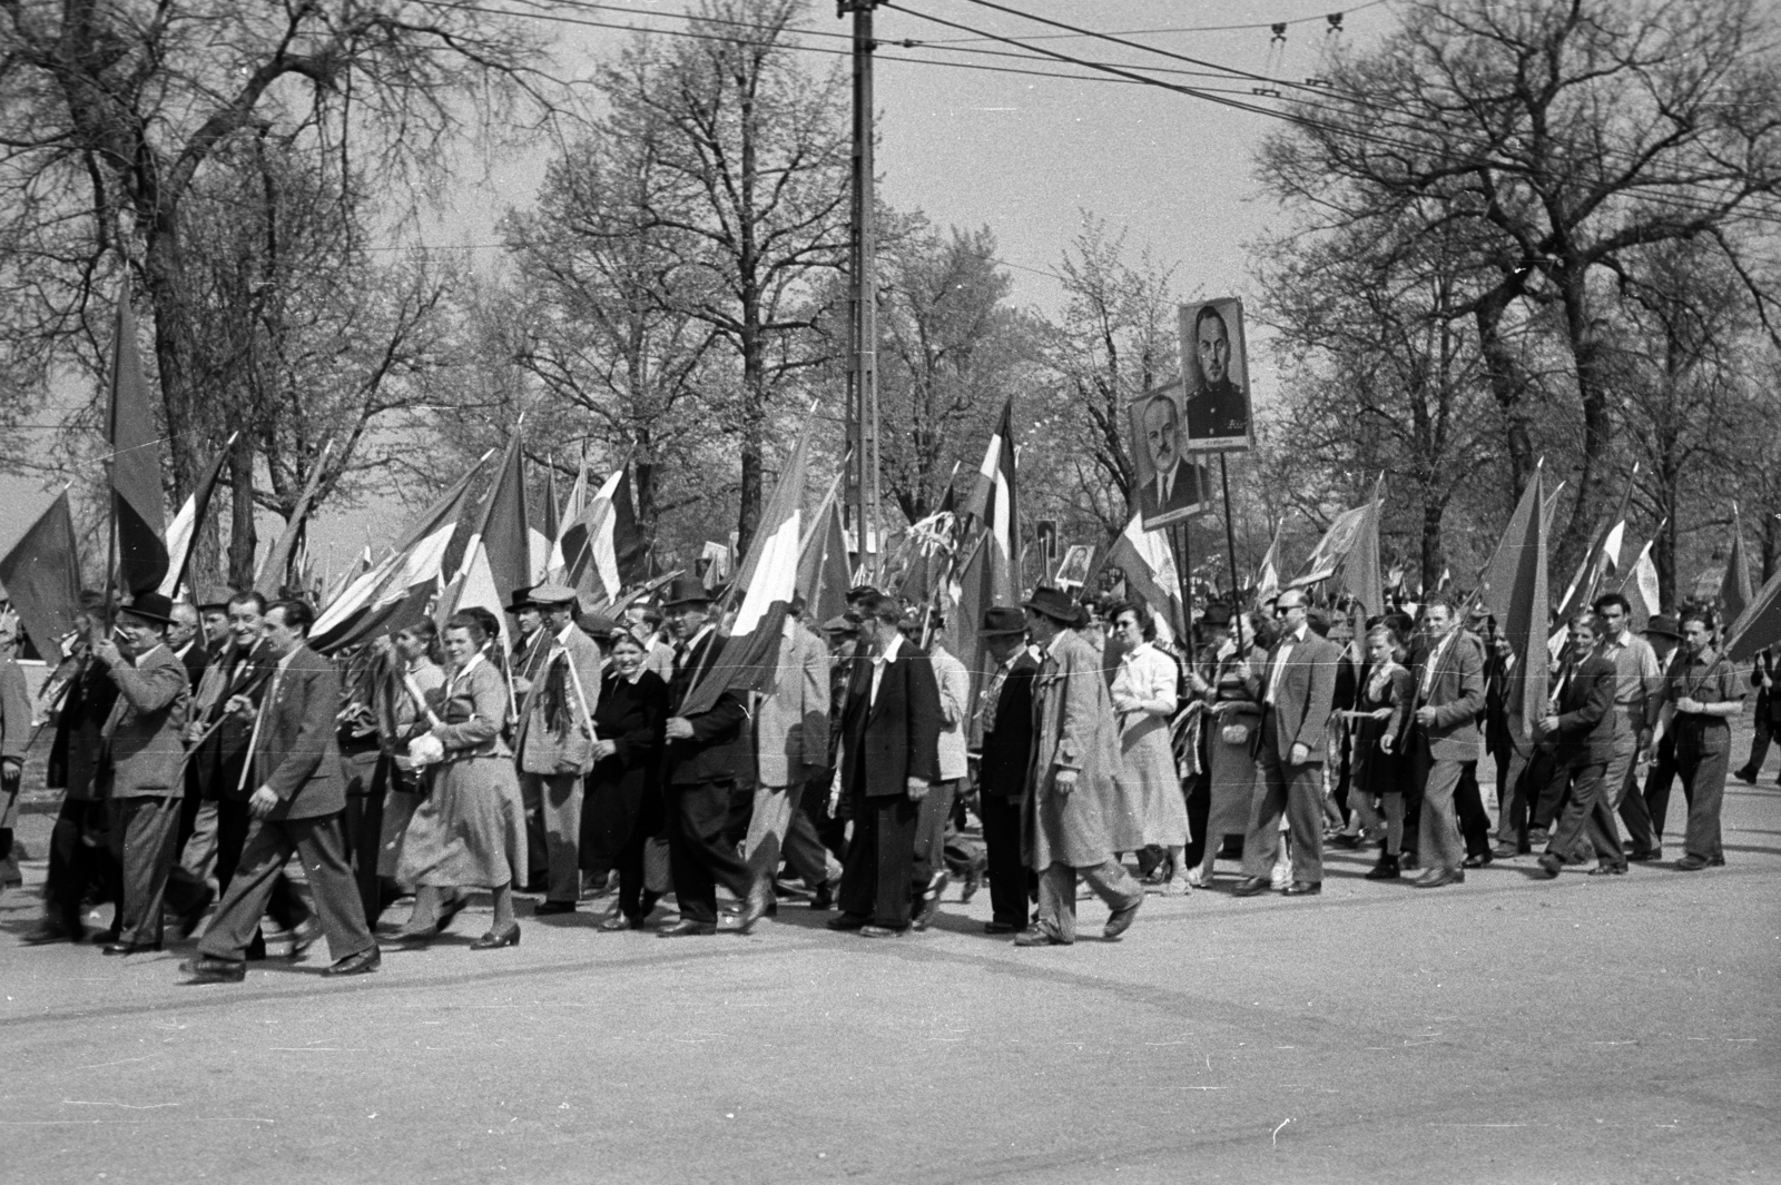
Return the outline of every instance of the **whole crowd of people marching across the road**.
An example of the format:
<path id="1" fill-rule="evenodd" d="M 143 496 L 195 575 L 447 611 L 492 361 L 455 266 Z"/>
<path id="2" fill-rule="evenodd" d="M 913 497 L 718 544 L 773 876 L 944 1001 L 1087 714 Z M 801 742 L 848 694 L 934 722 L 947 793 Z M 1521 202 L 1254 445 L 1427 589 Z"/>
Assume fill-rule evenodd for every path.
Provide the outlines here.
<path id="1" fill-rule="evenodd" d="M 1494 621 L 1441 600 L 1350 623 L 1288 589 L 1209 605 L 1177 646 L 1143 603 L 1040 587 L 971 623 L 972 676 L 939 614 L 858 587 L 826 623 L 794 605 L 777 665 L 716 696 L 725 605 L 695 578 L 622 617 L 541 584 L 511 623 L 470 609 L 333 657 L 301 600 L 196 600 L 80 601 L 39 696 L 62 802 L 27 939 L 87 941 L 112 902 L 103 954 L 201 929 L 180 964 L 196 982 L 317 938 L 329 973 L 372 971 L 474 891 L 493 922 L 468 948 L 495 950 L 520 943 L 518 895 L 538 918 L 593 902 L 600 931 L 647 929 L 671 895 L 655 932 L 684 938 L 746 934 L 801 881 L 830 929 L 896 938 L 956 877 L 964 900 L 987 883 L 987 932 L 1042 947 L 1076 939 L 1078 881 L 1117 939 L 1147 891 L 1208 888 L 1220 859 L 1241 861 L 1241 897 L 1320 893 L 1325 847 L 1377 845 L 1368 879 L 1418 888 L 1519 856 L 1608 877 L 1662 859 L 1676 783 L 1674 867 L 1696 872 L 1724 863 L 1745 687 L 1760 747 L 1740 778 L 1781 724 L 1767 653 L 1735 671 L 1706 609 L 1635 632 L 1619 594 L 1562 623 L 1533 703 Z M 5 849 L 30 715 L 0 662 Z"/>

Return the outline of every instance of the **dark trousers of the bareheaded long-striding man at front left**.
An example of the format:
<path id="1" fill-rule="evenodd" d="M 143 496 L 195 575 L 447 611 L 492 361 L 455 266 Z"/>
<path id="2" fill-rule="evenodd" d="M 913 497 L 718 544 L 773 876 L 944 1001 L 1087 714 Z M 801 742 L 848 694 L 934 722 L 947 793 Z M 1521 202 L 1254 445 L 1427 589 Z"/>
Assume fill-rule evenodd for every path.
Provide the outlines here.
<path id="1" fill-rule="evenodd" d="M 199 954 L 232 963 L 248 957 L 248 947 L 260 929 L 260 916 L 285 879 L 285 861 L 292 854 L 303 861 L 310 895 L 315 899 L 315 915 L 321 918 L 322 934 L 328 936 L 328 954 L 338 963 L 372 947 L 365 909 L 353 883 L 346 822 L 340 815 L 326 815 L 255 822 L 216 918 L 198 943 Z"/>

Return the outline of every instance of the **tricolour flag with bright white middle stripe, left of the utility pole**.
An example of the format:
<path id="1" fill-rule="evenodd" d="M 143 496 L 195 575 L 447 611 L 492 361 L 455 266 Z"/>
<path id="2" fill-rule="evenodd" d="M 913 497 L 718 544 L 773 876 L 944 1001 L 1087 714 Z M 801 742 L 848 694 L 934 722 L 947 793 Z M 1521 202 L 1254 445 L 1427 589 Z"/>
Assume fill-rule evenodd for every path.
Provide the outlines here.
<path id="1" fill-rule="evenodd" d="M 798 552 L 803 541 L 803 482 L 810 452 L 810 425 L 793 447 L 773 498 L 760 514 L 760 527 L 748 544 L 744 568 L 753 573 L 736 610 L 736 625 L 723 639 L 718 662 L 687 692 L 680 715 L 698 715 L 716 706 L 727 690 L 759 690 L 778 667 L 785 617 L 798 594 Z"/>

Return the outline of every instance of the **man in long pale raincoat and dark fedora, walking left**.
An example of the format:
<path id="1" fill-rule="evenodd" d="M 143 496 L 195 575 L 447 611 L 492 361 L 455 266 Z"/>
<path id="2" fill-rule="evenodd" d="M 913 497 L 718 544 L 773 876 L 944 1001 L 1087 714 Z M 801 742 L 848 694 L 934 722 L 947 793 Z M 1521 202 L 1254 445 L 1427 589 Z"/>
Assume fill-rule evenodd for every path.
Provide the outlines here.
<path id="1" fill-rule="evenodd" d="M 1033 589 L 1026 628 L 1044 658 L 1033 683 L 1031 792 L 1022 810 L 1026 863 L 1038 874 L 1038 916 L 1021 947 L 1076 941 L 1076 879 L 1108 904 L 1102 936 L 1118 938 L 1143 886 L 1113 856 L 1108 811 L 1120 767 L 1118 719 L 1101 657 L 1078 630 L 1086 614 L 1067 592 Z"/>

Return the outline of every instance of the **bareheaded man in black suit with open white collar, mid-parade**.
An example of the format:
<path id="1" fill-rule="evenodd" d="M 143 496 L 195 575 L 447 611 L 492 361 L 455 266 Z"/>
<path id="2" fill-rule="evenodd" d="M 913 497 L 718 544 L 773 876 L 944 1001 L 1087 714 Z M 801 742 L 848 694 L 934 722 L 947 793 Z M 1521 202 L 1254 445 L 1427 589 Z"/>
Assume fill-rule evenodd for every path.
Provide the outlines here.
<path id="1" fill-rule="evenodd" d="M 860 660 L 841 710 L 835 781 L 853 813 L 832 931 L 890 938 L 908 931 L 910 868 L 921 801 L 940 779 L 940 689 L 928 655 L 903 639 L 903 609 L 860 601 Z"/>

